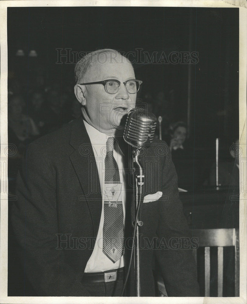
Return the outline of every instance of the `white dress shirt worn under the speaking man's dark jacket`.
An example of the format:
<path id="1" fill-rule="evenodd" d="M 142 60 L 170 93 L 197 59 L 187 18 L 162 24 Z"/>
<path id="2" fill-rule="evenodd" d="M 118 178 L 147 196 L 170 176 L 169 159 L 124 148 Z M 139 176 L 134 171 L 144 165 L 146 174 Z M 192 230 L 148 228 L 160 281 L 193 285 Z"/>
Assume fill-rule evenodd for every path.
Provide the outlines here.
<path id="1" fill-rule="evenodd" d="M 97 164 L 97 169 L 99 172 L 101 193 L 103 194 L 104 185 L 105 185 L 106 140 L 110 136 L 99 132 L 99 130 L 89 125 L 89 123 L 87 123 L 85 120 L 83 121 L 92 144 L 93 153 Z M 126 180 L 125 180 L 124 167 L 123 167 L 123 153 L 117 144 L 115 144 L 114 146 L 113 156 L 117 161 L 119 168 L 119 175 L 120 175 L 120 183 L 122 183 L 121 195 L 123 202 L 123 223 L 124 223 L 125 202 L 126 202 L 126 193 L 125 193 Z M 106 270 L 117 269 L 124 266 L 124 255 L 116 263 L 114 263 L 103 253 L 103 225 L 104 225 L 104 200 L 102 198 L 102 212 L 100 217 L 99 230 L 96 237 L 96 242 L 93 252 L 86 264 L 86 268 L 84 272 L 98 272 L 98 271 L 103 272 Z"/>

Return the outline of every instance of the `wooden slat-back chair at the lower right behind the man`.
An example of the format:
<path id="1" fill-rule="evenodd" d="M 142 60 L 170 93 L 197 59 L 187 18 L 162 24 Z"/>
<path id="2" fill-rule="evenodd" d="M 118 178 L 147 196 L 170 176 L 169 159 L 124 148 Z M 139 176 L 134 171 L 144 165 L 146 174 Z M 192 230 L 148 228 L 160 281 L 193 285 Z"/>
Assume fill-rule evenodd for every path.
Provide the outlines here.
<path id="1" fill-rule="evenodd" d="M 217 247 L 217 294 L 223 296 L 223 247 L 235 247 L 235 296 L 239 296 L 239 230 L 238 229 L 194 229 L 193 237 L 198 238 L 199 247 L 204 248 L 205 296 L 210 296 L 210 247 Z M 197 249 L 193 249 L 197 263 Z"/>

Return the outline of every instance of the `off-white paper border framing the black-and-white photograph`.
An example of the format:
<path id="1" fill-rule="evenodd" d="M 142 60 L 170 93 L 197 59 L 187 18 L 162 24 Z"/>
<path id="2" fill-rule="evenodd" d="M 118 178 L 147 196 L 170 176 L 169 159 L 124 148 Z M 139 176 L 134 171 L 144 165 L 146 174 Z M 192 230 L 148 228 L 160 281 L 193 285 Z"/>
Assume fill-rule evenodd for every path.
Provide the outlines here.
<path id="1" fill-rule="evenodd" d="M 1 138 L 1 190 L 8 184 L 6 172 L 7 168 L 3 170 L 4 165 L 7 164 L 5 160 L 4 149 L 8 143 L 7 133 L 7 7 L 31 7 L 31 6 L 43 6 L 43 7 L 59 7 L 59 6 L 165 6 L 165 7 L 239 7 L 239 144 L 243 150 L 243 154 L 246 159 L 246 83 L 247 83 L 247 5 L 245 0 L 239 1 L 202 1 L 202 0 L 96 0 L 96 1 L 67 1 L 67 0 L 28 0 L 28 1 L 1 1 L 0 2 L 0 14 L 1 14 L 1 27 L 0 27 L 0 47 L 1 47 L 1 78 L 0 78 L 0 138 Z M 245 164 L 245 170 L 246 170 Z M 246 171 L 244 172 L 246 181 Z M 247 187 L 246 182 L 243 185 L 243 191 L 240 191 L 240 297 L 232 298 L 215 298 L 215 297 L 8 297 L 7 296 L 7 276 L 8 276 L 8 195 L 7 191 L 1 191 L 1 218 L 0 218 L 0 303 L 243 303 L 246 304 L 246 269 L 247 269 Z"/>

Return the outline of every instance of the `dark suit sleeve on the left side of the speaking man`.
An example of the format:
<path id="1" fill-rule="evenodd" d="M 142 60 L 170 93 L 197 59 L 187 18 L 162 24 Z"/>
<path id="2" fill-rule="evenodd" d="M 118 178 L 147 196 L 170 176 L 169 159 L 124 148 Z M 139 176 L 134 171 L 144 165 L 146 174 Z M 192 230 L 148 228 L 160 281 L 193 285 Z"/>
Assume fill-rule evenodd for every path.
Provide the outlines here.
<path id="1" fill-rule="evenodd" d="M 81 272 L 57 250 L 55 169 L 35 145 L 28 147 L 17 177 L 12 226 L 21 247 L 24 272 L 39 296 L 89 296 Z"/>

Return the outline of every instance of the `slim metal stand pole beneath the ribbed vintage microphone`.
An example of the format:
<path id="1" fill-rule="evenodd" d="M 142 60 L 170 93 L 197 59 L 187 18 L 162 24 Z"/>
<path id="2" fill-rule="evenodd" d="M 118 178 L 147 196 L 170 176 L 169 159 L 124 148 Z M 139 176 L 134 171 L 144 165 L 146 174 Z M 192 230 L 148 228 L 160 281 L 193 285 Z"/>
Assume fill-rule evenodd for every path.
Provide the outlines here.
<path id="1" fill-rule="evenodd" d="M 134 218 L 137 218 L 137 226 L 134 236 L 134 270 L 135 270 L 135 296 L 141 296 L 141 271 L 140 271 L 140 237 L 139 237 L 139 227 L 143 225 L 143 222 L 138 218 L 137 206 L 143 201 L 141 196 L 142 189 L 144 186 L 144 168 L 142 167 L 139 159 L 140 149 L 133 149 L 133 171 L 134 171 L 134 182 L 135 182 L 135 208 L 134 208 Z M 134 224 L 134 223 L 133 223 Z"/>

